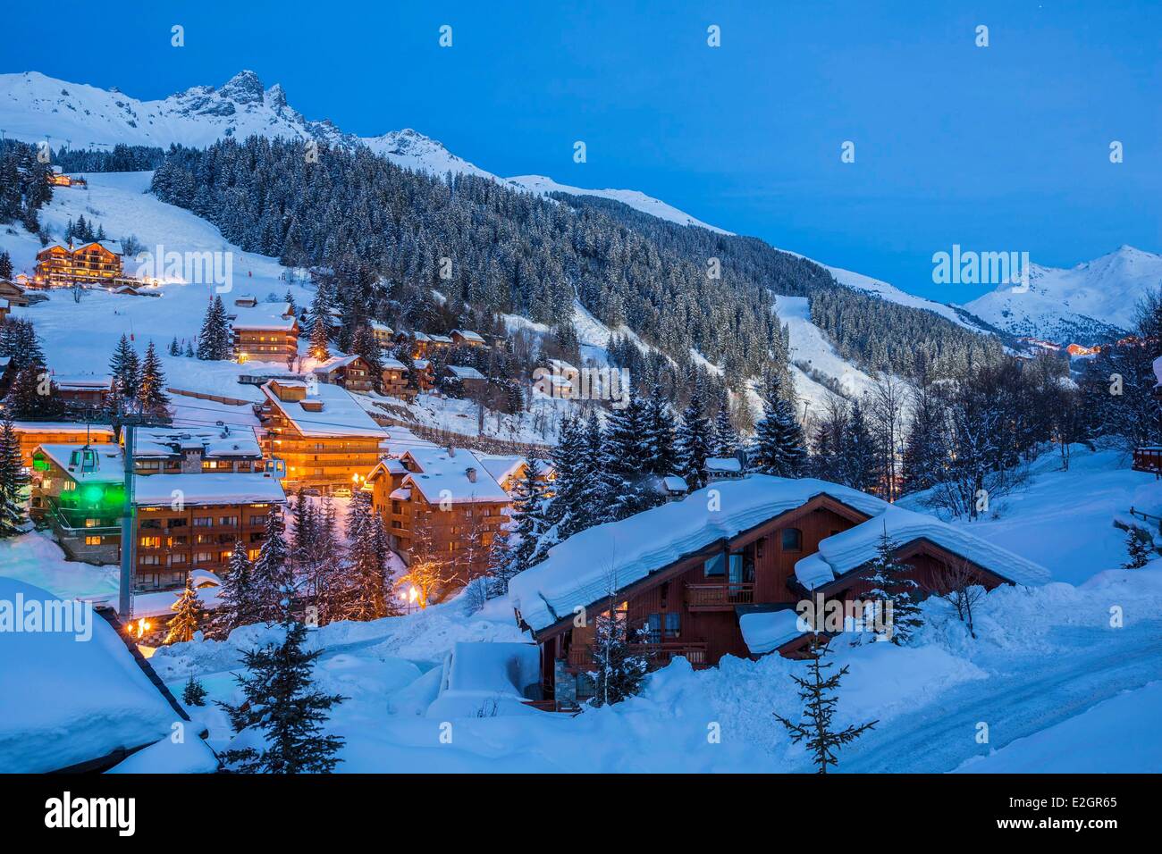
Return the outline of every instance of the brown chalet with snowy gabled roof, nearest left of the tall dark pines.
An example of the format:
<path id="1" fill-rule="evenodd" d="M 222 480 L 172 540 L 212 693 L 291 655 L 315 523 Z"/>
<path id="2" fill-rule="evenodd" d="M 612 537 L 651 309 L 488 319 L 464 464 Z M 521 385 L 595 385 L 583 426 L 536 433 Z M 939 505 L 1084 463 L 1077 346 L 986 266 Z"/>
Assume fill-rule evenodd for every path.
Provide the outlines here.
<path id="1" fill-rule="evenodd" d="M 379 462 L 367 485 L 404 562 L 417 555 L 439 561 L 446 589 L 487 572 L 488 547 L 508 521 L 510 500 L 472 451 L 414 447 Z"/>

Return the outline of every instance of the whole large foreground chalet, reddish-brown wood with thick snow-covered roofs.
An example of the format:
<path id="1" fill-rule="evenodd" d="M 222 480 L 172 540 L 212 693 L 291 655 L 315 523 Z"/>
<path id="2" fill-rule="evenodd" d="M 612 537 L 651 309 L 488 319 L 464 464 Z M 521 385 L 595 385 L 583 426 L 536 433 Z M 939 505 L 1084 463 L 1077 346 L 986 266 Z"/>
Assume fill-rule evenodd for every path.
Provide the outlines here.
<path id="1" fill-rule="evenodd" d="M 546 698 L 569 706 L 591 692 L 594 618 L 611 608 L 652 667 L 677 655 L 700 668 L 723 655 L 798 654 L 811 636 L 798 625 L 796 604 L 863 596 L 883 530 L 925 595 L 953 569 L 988 589 L 1049 577 L 1016 554 L 865 493 L 751 475 L 582 531 L 512 579 L 509 593 L 519 624 L 540 645 Z M 580 624 L 579 613 L 588 615 Z"/>

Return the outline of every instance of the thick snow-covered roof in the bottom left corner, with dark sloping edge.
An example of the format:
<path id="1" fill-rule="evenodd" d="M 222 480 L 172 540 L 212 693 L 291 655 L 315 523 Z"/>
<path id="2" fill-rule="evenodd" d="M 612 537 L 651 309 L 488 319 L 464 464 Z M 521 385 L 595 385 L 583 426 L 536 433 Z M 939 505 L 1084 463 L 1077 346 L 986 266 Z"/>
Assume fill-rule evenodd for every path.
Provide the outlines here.
<path id="1" fill-rule="evenodd" d="M 0 577 L 0 600 L 60 608 L 38 587 Z M 57 604 L 52 604 L 57 603 Z M 69 612 L 78 613 L 71 607 Z M 88 641 L 66 631 L 0 632 L 0 768 L 42 773 L 170 735 L 178 713 L 100 615 Z"/>

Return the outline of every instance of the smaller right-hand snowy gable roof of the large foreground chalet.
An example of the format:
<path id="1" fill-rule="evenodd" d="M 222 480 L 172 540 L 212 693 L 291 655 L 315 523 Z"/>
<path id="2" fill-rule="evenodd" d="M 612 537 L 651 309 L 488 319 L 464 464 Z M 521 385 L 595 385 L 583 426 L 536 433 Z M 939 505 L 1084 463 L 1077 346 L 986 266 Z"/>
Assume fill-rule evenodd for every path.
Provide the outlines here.
<path id="1" fill-rule="evenodd" d="M 1039 564 L 934 516 L 901 507 L 889 507 L 861 525 L 820 540 L 818 552 L 795 564 L 795 577 L 813 590 L 863 566 L 876 557 L 876 546 L 884 531 L 902 546 L 918 539 L 934 543 L 1017 584 L 1043 584 L 1049 581 L 1049 570 Z"/>

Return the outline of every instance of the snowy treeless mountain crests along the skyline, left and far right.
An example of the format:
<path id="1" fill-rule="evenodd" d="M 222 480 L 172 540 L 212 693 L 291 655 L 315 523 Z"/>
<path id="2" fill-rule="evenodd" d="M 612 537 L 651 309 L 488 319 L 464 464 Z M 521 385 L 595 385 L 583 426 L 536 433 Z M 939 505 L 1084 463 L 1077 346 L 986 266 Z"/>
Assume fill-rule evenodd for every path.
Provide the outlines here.
<path id="1" fill-rule="evenodd" d="M 537 194 L 600 196 L 668 222 L 730 234 L 633 189 L 586 189 L 541 175 L 500 178 L 411 129 L 374 137 L 346 134 L 329 120 L 306 119 L 288 105 L 280 85 L 266 88 L 252 71 L 242 71 L 220 87 L 194 86 L 157 101 L 139 101 L 116 88 L 66 82 L 38 72 L 0 74 L 0 131 L 27 142 L 48 139 L 55 149 L 108 149 L 117 143 L 203 148 L 217 139 L 251 135 L 317 139 L 366 146 L 419 172 L 475 174 Z M 1071 270 L 1032 265 L 1027 292 L 1014 293 L 1011 286 L 1003 286 L 962 307 L 913 296 L 860 273 L 822 266 L 841 285 L 933 311 L 968 329 L 1079 344 L 1127 330 L 1141 295 L 1162 286 L 1162 256 L 1132 246 L 1121 246 Z"/>

